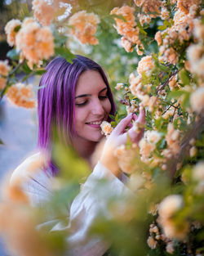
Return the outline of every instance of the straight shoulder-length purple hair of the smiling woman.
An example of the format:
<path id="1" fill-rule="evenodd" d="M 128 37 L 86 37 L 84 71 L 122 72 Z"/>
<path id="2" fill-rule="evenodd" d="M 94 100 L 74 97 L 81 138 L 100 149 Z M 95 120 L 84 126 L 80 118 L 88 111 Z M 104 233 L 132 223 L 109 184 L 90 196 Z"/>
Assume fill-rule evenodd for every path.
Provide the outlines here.
<path id="1" fill-rule="evenodd" d="M 111 103 L 110 114 L 115 114 L 113 95 L 100 65 L 85 56 L 77 55 L 72 64 L 62 57 L 56 57 L 47 65 L 47 72 L 42 74 L 39 83 L 41 88 L 38 90 L 38 147 L 47 150 L 50 155 L 53 125 L 65 143 L 70 144 L 72 141 L 72 134 L 75 132 L 75 90 L 80 74 L 86 70 L 96 70 L 104 79 Z M 53 175 L 58 173 L 52 160 L 49 166 Z"/>

